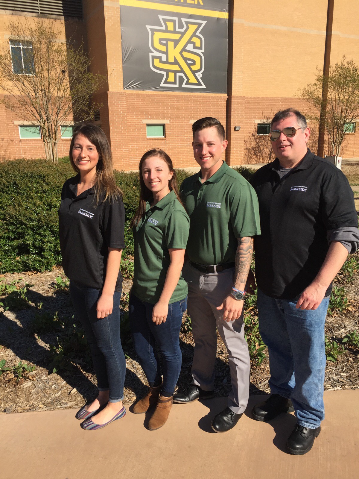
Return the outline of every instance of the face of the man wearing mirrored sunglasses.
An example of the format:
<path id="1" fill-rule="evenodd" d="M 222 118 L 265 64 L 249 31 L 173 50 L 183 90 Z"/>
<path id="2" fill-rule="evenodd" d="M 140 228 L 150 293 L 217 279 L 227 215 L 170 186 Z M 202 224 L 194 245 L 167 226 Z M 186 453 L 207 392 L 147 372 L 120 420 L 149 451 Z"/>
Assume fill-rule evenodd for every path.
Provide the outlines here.
<path id="1" fill-rule="evenodd" d="M 288 126 L 294 126 L 294 128 L 301 126 L 298 125 L 297 118 L 294 114 L 291 114 L 288 118 L 284 118 L 284 120 L 273 123 L 270 130 L 282 130 Z M 281 133 L 277 140 L 271 142 L 273 153 L 282 166 L 292 168 L 303 159 L 307 152 L 309 135 L 310 129 L 305 128 L 304 130 L 297 130 L 292 138 L 288 138 L 284 133 Z"/>

